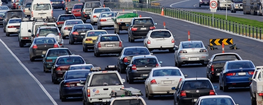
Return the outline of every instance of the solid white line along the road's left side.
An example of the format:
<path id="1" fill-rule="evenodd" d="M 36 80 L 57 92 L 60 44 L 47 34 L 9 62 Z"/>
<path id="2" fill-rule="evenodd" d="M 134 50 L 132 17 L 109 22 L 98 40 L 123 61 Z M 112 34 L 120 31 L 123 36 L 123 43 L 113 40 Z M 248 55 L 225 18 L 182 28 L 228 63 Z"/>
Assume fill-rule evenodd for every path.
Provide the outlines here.
<path id="1" fill-rule="evenodd" d="M 19 64 L 28 72 L 28 74 L 37 82 L 37 84 L 41 87 L 41 89 L 45 92 L 45 94 L 49 97 L 54 105 L 58 105 L 56 101 L 51 97 L 51 95 L 46 91 L 44 86 L 37 80 L 37 78 L 28 70 L 28 68 L 18 59 L 17 56 L 7 47 L 7 45 L 0 39 L 2 44 L 6 47 L 6 49 L 15 57 L 15 59 L 19 62 Z"/>

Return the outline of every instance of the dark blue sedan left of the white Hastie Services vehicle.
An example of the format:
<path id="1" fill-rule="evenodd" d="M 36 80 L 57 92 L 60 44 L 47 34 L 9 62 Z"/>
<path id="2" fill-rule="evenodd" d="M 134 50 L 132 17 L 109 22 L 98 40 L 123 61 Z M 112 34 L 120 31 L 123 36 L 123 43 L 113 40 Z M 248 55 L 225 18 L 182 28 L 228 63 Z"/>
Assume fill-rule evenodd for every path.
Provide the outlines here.
<path id="1" fill-rule="evenodd" d="M 70 70 L 65 72 L 59 84 L 59 99 L 62 102 L 68 97 L 82 97 L 82 88 L 84 85 L 80 81 L 86 81 L 89 70 Z"/>

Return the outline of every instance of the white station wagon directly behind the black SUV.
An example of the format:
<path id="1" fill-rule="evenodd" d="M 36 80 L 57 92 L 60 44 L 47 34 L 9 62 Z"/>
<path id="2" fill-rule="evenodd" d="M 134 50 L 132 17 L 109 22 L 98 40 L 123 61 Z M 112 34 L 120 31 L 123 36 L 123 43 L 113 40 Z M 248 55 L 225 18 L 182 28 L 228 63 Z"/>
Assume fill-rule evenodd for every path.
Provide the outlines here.
<path id="1" fill-rule="evenodd" d="M 147 47 L 149 51 L 157 50 L 169 50 L 169 52 L 175 52 L 175 35 L 168 29 L 152 29 L 150 30 L 146 38 L 144 39 L 144 47 Z"/>

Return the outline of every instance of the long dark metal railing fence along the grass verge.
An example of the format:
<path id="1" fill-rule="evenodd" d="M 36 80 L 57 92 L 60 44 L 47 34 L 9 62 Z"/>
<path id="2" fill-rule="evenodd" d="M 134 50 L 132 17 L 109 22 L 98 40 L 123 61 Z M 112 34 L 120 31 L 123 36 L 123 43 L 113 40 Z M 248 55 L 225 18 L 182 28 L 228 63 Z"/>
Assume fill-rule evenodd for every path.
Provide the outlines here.
<path id="1" fill-rule="evenodd" d="M 111 9 L 140 10 L 140 11 L 152 12 L 156 14 L 161 14 L 163 8 L 164 16 L 187 20 L 201 25 L 211 26 L 213 28 L 223 29 L 242 36 L 253 37 L 261 40 L 261 32 L 262 32 L 261 27 L 244 25 L 234 21 L 226 21 L 224 19 L 195 14 L 189 11 L 167 8 L 163 6 L 155 6 L 145 3 L 110 2 L 110 0 L 105 0 L 104 5 Z"/>

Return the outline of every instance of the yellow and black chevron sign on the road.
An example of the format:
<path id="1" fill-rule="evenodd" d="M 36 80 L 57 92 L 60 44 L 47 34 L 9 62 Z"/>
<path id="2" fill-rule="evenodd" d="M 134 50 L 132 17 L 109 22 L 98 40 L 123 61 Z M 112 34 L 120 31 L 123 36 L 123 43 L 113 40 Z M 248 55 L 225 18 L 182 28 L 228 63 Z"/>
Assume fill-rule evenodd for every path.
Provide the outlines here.
<path id="1" fill-rule="evenodd" d="M 210 45 L 222 45 L 222 42 L 224 45 L 233 45 L 233 38 L 210 39 L 209 42 Z"/>

